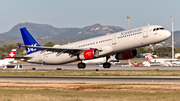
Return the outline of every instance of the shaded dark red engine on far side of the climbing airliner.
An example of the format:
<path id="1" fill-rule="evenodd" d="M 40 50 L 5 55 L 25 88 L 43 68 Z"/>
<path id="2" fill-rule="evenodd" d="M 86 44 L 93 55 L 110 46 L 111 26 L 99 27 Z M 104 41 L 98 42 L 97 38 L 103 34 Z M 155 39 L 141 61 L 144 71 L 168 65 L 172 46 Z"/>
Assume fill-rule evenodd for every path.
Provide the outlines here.
<path id="1" fill-rule="evenodd" d="M 117 60 L 126 60 L 126 59 L 134 58 L 136 55 L 137 55 L 137 50 L 131 49 L 131 50 L 127 50 L 127 51 L 117 53 L 116 59 Z"/>

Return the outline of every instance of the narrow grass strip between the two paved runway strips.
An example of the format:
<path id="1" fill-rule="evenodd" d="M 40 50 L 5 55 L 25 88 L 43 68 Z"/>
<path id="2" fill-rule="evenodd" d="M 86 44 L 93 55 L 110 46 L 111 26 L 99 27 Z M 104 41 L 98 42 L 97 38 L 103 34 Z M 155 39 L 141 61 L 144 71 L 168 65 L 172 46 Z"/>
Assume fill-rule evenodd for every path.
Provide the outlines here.
<path id="1" fill-rule="evenodd" d="M 180 71 L 0 71 L 0 76 L 180 76 Z"/>

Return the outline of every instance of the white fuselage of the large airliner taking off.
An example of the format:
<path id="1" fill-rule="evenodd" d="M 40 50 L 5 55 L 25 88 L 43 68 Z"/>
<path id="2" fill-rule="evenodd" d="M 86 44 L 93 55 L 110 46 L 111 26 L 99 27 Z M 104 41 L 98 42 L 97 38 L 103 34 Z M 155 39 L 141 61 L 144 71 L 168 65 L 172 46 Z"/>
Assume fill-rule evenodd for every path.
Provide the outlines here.
<path id="1" fill-rule="evenodd" d="M 102 50 L 99 52 L 99 57 L 107 55 L 114 55 L 116 53 L 147 46 L 162 42 L 170 37 L 171 33 L 167 30 L 155 30 L 154 28 L 161 28 L 162 26 L 150 25 L 131 30 L 121 31 L 113 34 L 99 36 L 96 38 L 86 39 L 71 44 L 58 46 L 61 48 L 82 48 L 90 49 L 96 48 Z M 57 52 L 41 52 L 26 55 L 32 57 L 27 62 L 45 63 L 45 64 L 63 64 L 77 61 L 77 56 L 72 56 L 68 53 L 57 55 Z"/>

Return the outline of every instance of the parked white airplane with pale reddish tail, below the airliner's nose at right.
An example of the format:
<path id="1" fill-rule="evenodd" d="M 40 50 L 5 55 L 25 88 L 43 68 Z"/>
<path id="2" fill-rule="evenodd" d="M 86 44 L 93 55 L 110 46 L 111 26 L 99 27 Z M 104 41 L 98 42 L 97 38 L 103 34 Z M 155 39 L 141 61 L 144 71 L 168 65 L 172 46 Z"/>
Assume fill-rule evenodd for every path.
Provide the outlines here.
<path id="1" fill-rule="evenodd" d="M 150 53 L 145 53 L 147 55 L 148 61 L 150 62 L 165 62 L 165 61 L 178 61 L 178 59 L 154 59 Z"/>

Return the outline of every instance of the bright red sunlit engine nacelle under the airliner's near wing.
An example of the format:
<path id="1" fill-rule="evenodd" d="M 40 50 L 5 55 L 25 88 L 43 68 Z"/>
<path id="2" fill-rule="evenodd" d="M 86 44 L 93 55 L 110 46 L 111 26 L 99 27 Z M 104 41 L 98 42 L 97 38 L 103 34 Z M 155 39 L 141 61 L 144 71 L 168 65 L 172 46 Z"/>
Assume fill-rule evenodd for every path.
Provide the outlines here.
<path id="1" fill-rule="evenodd" d="M 89 60 L 97 57 L 99 57 L 99 51 L 98 49 L 95 48 L 85 50 L 82 53 L 80 53 L 78 56 L 80 60 Z"/>

